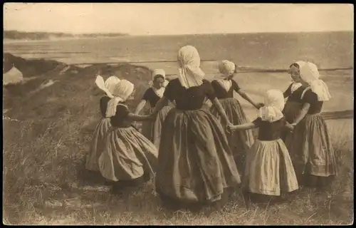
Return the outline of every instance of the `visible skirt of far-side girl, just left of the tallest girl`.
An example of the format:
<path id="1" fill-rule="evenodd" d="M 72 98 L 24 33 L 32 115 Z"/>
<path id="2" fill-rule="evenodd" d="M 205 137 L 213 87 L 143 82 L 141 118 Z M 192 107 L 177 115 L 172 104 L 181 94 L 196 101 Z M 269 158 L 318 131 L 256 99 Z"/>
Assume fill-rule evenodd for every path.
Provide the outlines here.
<path id="1" fill-rule="evenodd" d="M 142 135 L 149 139 L 156 147 L 159 148 L 159 141 L 161 139 L 161 130 L 164 119 L 166 118 L 171 106 L 164 106 L 157 113 L 157 118 L 155 121 L 145 121 L 142 123 Z M 154 108 L 150 108 L 145 113 L 150 115 Z"/>

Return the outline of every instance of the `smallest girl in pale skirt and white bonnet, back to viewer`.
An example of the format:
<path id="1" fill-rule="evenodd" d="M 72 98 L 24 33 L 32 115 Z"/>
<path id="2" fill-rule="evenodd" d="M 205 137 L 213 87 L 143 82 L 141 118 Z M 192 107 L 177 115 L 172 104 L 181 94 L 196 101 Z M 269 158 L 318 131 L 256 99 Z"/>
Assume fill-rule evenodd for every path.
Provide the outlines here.
<path id="1" fill-rule="evenodd" d="M 246 156 L 243 178 L 244 192 L 251 199 L 266 201 L 278 197 L 281 192 L 298 190 L 298 181 L 281 132 L 292 127 L 286 122 L 282 110 L 283 93 L 280 90 L 268 90 L 265 106 L 252 123 L 235 125 L 230 130 L 258 128 L 258 139 L 253 143 L 251 152 Z"/>

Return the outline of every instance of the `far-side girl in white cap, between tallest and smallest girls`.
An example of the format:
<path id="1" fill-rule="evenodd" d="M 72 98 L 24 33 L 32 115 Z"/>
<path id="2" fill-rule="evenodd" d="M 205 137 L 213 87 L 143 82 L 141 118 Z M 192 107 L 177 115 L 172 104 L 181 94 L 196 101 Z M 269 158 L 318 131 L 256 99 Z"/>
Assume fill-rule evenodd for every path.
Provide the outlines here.
<path id="1" fill-rule="evenodd" d="M 229 121 L 234 125 L 248 123 L 246 114 L 244 113 L 239 100 L 234 98 L 234 91 L 239 93 L 242 98 L 247 100 L 257 109 L 263 106 L 263 104 L 254 103 L 244 90 L 239 87 L 236 81 L 233 80 L 234 73 L 236 73 L 235 63 L 226 60 L 221 61 L 219 64 L 219 71 L 224 78 L 212 81 L 211 86 L 213 86 L 216 97 L 224 108 Z M 211 107 L 210 111 L 221 121 L 221 125 L 226 125 L 214 106 Z M 245 154 L 251 149 L 251 145 L 253 144 L 252 130 L 236 131 L 233 134 L 228 132 L 225 133 L 228 138 L 230 149 L 234 153 L 236 162 L 238 162 L 237 168 L 243 170 Z"/>

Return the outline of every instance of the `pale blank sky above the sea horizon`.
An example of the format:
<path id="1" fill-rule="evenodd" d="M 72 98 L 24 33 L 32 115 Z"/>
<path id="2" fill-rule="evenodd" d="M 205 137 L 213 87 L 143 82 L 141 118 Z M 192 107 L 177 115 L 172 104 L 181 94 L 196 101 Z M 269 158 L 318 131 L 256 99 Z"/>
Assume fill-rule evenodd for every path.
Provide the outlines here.
<path id="1" fill-rule="evenodd" d="M 4 4 L 4 30 L 139 36 L 353 31 L 353 17 L 352 4 Z"/>

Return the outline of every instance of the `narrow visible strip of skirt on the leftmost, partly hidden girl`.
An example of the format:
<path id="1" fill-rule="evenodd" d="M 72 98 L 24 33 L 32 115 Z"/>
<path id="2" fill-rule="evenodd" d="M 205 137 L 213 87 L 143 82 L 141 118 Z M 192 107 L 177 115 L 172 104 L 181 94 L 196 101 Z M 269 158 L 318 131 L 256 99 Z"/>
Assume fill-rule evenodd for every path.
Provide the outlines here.
<path id="1" fill-rule="evenodd" d="M 103 150 L 105 150 L 105 134 L 110 128 L 110 118 L 103 118 L 96 126 L 90 150 L 86 157 L 85 169 L 99 171 L 98 160 Z"/>

